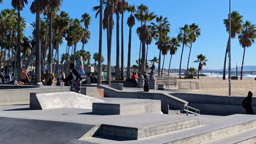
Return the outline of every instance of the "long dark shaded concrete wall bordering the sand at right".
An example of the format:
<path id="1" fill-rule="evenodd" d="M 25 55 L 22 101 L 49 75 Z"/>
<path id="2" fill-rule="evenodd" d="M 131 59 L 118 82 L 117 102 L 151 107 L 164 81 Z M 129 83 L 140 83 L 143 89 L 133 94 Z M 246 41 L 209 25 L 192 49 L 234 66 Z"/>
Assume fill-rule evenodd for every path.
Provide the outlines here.
<path id="1" fill-rule="evenodd" d="M 232 115 L 235 113 L 245 114 L 242 100 L 245 97 L 229 97 L 207 94 L 171 93 L 174 97 L 186 100 L 189 106 L 199 109 L 201 113 Z M 253 98 L 256 101 L 256 98 Z M 253 103 L 254 110 L 256 103 Z"/>

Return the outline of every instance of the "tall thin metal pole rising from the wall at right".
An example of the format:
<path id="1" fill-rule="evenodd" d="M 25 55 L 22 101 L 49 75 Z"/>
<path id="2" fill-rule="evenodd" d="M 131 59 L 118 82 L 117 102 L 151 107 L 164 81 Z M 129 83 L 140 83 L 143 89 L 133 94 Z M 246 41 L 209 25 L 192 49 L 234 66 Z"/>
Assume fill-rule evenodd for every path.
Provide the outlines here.
<path id="1" fill-rule="evenodd" d="M 231 0 L 229 0 L 229 96 L 231 96 Z"/>

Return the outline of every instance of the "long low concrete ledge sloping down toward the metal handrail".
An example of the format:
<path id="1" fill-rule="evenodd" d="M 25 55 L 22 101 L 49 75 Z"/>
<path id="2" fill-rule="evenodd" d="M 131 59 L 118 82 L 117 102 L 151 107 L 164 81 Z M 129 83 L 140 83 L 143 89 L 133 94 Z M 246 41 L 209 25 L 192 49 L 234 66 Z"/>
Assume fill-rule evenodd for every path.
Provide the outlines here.
<path id="1" fill-rule="evenodd" d="M 188 102 L 179 98 L 176 98 L 169 94 L 164 93 L 140 93 L 140 92 L 123 92 L 118 91 L 117 89 L 110 88 L 104 85 L 96 86 L 98 88 L 104 89 L 104 97 L 109 98 L 148 98 L 161 100 L 161 103 L 165 103 L 170 106 L 171 110 L 183 110 L 184 105 L 188 105 Z"/>

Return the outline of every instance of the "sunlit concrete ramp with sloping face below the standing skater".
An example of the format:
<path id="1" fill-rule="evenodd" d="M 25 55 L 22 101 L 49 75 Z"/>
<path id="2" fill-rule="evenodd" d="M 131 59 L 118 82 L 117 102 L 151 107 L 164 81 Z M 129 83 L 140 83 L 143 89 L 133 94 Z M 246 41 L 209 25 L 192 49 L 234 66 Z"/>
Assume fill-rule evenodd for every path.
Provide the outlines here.
<path id="1" fill-rule="evenodd" d="M 97 98 L 88 97 L 74 92 L 31 93 L 30 109 L 46 110 L 57 108 L 92 109 L 92 103 L 103 102 Z"/>

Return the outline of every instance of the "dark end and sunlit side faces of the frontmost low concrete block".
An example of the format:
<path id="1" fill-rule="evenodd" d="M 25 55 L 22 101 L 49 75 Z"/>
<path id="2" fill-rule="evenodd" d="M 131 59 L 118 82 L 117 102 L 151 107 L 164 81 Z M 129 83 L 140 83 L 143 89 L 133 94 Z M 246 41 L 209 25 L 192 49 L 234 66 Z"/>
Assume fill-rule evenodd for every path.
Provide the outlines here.
<path id="1" fill-rule="evenodd" d="M 160 114 L 159 117 L 161 116 L 170 115 Z M 155 118 L 152 119 L 154 121 Z M 143 119 L 141 120 L 143 121 Z M 138 140 L 145 137 L 192 128 L 199 125 L 202 125 L 202 121 L 199 117 L 177 116 L 167 118 L 165 121 L 156 121 L 154 123 L 144 123 L 140 125 L 133 124 L 130 127 L 124 127 L 124 125 L 101 124 L 100 128 L 98 128 L 94 136 L 115 136 L 124 137 L 131 140 Z"/>

